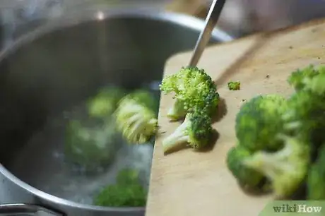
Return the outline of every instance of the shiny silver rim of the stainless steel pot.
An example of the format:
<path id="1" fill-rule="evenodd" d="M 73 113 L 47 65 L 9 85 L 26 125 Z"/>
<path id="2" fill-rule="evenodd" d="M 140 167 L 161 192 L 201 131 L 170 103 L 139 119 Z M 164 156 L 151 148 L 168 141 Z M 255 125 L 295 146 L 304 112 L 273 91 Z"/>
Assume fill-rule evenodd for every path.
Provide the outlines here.
<path id="1" fill-rule="evenodd" d="M 69 11 L 70 13 L 71 11 Z M 150 18 L 153 20 L 163 20 L 168 21 L 170 23 L 180 25 L 182 27 L 187 27 L 192 30 L 202 30 L 204 27 L 204 21 L 195 18 L 193 16 L 188 16 L 181 13 L 173 13 L 168 11 L 161 10 L 143 10 L 143 9 L 114 9 L 113 11 L 108 10 L 107 8 L 100 9 L 90 9 L 87 11 L 82 11 L 82 13 L 70 13 L 70 15 L 64 14 L 60 18 L 54 18 L 54 20 L 49 21 L 48 24 L 37 28 L 36 30 L 32 30 L 22 37 L 19 37 L 15 42 L 13 42 L 8 47 L 5 47 L 0 52 L 0 61 L 4 60 L 6 56 L 15 52 L 19 49 L 20 45 L 26 44 L 28 42 L 32 42 L 38 37 L 42 37 L 42 35 L 46 35 L 47 33 L 53 32 L 59 28 L 69 27 L 73 25 L 78 25 L 81 23 L 85 23 L 87 21 L 95 21 L 95 20 L 105 20 L 107 18 Z M 212 32 L 211 37 L 220 40 L 221 42 L 228 42 L 234 39 L 234 37 L 228 35 L 223 30 L 215 28 Z M 142 212 L 146 209 L 146 207 L 124 207 L 124 208 L 115 208 L 115 207 L 101 207 L 96 205 L 88 205 L 82 203 L 76 203 L 71 200 L 66 200 L 64 198 L 59 198 L 57 196 L 53 196 L 49 193 L 45 193 L 44 191 L 40 191 L 39 189 L 30 186 L 24 181 L 18 179 L 14 174 L 12 174 L 8 169 L 6 169 L 0 163 L 0 173 L 6 176 L 11 183 L 18 185 L 20 188 L 25 189 L 29 193 L 40 197 L 46 200 L 48 203 L 55 203 L 57 205 L 63 205 L 65 207 L 71 208 L 81 208 L 84 210 L 95 210 L 95 211 L 114 211 L 114 212 Z"/>

